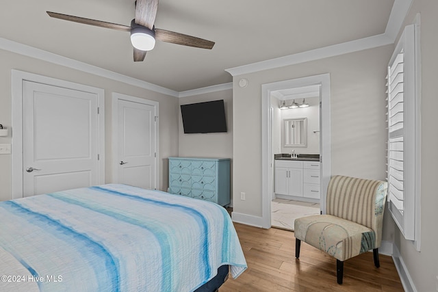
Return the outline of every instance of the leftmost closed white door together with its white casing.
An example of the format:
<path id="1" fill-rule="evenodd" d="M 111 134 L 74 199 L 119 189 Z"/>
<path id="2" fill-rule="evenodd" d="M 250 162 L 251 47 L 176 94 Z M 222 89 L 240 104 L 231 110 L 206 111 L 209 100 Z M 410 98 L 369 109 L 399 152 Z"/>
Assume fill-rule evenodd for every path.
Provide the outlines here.
<path id="1" fill-rule="evenodd" d="M 12 70 L 12 198 L 105 183 L 103 97 Z"/>

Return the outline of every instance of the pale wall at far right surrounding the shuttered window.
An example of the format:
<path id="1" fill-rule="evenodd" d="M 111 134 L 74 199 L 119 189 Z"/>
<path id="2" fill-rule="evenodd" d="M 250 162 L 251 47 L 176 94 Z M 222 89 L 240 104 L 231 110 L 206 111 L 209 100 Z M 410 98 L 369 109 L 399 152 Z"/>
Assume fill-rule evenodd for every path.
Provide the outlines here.
<path id="1" fill-rule="evenodd" d="M 404 26 L 421 16 L 421 252 L 396 228 L 395 243 L 417 291 L 438 290 L 438 1 L 414 0 Z M 400 30 L 400 33 L 402 31 Z"/>

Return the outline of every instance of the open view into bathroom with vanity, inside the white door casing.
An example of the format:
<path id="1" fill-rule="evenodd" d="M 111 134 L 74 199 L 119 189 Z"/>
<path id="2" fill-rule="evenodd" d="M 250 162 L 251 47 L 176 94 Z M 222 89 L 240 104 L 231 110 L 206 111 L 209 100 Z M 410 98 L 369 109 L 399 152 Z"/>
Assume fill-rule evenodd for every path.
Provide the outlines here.
<path id="1" fill-rule="evenodd" d="M 320 214 L 320 87 L 270 94 L 275 228 L 294 230 L 296 218 Z"/>

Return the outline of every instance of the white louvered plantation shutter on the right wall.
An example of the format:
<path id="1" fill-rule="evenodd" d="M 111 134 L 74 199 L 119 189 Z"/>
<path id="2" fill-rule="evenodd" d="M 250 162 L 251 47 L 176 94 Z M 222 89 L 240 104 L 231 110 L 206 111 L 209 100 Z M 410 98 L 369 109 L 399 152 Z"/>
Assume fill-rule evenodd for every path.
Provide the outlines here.
<path id="1" fill-rule="evenodd" d="M 387 181 L 389 211 L 404 238 L 415 239 L 415 42 L 407 26 L 387 75 Z"/>

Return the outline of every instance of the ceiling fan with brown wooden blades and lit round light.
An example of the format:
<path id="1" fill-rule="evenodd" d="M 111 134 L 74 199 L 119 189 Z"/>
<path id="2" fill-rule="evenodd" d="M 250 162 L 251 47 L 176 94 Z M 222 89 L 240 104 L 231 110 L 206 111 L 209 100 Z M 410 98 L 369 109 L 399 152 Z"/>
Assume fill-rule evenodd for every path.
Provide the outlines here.
<path id="1" fill-rule="evenodd" d="M 182 44 L 183 46 L 196 47 L 201 49 L 211 49 L 214 42 L 179 34 L 174 31 L 157 29 L 154 27 L 155 16 L 157 15 L 158 0 L 137 0 L 136 1 L 136 18 L 131 21 L 131 26 L 118 25 L 116 23 L 107 23 L 105 21 L 96 21 L 94 19 L 49 12 L 47 14 L 54 18 L 60 18 L 64 21 L 73 21 L 86 25 L 95 25 L 96 27 L 105 27 L 131 33 L 131 43 L 134 49 L 134 62 L 141 62 L 146 56 L 146 51 L 151 51 L 155 46 L 155 39 L 162 42 L 171 42 L 172 44 Z"/>

